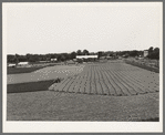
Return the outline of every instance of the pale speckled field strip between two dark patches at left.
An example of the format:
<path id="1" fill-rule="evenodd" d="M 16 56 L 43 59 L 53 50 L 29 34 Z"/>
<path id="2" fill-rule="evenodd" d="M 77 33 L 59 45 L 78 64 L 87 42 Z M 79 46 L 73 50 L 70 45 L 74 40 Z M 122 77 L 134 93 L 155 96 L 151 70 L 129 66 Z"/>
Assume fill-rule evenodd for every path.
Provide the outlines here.
<path id="1" fill-rule="evenodd" d="M 7 84 L 39 82 L 45 80 L 64 79 L 80 73 L 84 65 L 54 65 L 37 70 L 31 73 L 9 74 Z"/>

